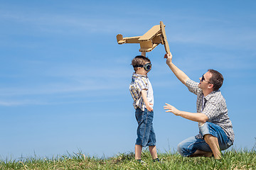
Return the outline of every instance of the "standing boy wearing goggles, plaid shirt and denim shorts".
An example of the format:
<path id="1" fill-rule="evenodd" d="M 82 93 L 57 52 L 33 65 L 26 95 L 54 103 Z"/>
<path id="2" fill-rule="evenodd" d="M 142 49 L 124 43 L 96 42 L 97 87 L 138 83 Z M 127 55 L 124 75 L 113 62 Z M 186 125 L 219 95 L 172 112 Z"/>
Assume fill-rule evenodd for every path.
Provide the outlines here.
<path id="1" fill-rule="evenodd" d="M 147 73 L 151 69 L 149 58 L 138 55 L 132 60 L 135 73 L 129 91 L 134 99 L 135 116 L 138 123 L 137 141 L 135 144 L 135 159 L 142 162 L 142 147 L 149 146 L 149 152 L 154 162 L 159 162 L 156 154 L 156 135 L 153 129 L 154 96 Z"/>

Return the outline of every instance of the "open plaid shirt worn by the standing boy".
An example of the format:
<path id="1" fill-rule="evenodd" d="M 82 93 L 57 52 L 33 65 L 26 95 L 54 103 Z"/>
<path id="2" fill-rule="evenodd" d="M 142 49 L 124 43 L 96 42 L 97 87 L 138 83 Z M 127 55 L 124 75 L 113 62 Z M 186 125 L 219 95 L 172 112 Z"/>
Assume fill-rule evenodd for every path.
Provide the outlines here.
<path id="1" fill-rule="evenodd" d="M 142 74 L 132 74 L 132 82 L 129 85 L 129 91 L 134 99 L 133 106 L 135 109 L 139 107 L 142 111 L 144 111 L 146 107 L 142 99 L 142 90 L 144 89 L 149 89 L 148 77 Z"/>

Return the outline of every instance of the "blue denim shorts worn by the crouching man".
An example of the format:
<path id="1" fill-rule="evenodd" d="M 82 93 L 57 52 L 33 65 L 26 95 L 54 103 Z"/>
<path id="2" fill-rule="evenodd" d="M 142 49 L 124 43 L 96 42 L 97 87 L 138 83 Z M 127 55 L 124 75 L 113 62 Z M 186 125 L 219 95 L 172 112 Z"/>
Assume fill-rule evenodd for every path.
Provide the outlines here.
<path id="1" fill-rule="evenodd" d="M 203 140 L 203 135 L 213 135 L 214 137 L 218 137 L 218 143 L 220 145 L 220 150 L 228 149 L 231 145 L 233 145 L 232 141 L 228 138 L 222 128 L 219 125 L 215 125 L 213 123 L 206 122 L 203 125 L 199 125 L 200 134 L 194 137 L 188 137 L 188 139 L 183 140 L 178 144 L 178 152 L 183 157 L 188 157 L 196 150 L 201 150 L 205 152 L 212 152 L 209 145 Z"/>

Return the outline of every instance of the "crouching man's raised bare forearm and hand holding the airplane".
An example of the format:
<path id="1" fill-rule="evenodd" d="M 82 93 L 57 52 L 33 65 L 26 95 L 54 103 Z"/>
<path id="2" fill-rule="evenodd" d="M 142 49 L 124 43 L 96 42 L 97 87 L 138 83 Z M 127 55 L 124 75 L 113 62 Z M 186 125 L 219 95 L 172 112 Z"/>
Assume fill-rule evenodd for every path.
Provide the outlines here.
<path id="1" fill-rule="evenodd" d="M 181 81 L 181 83 L 186 85 L 186 81 L 188 81 L 189 77 L 181 71 L 181 69 L 178 69 L 174 63 L 172 63 L 172 55 L 166 54 L 164 55 L 164 58 L 166 58 L 166 64 L 170 67 L 171 71 L 174 72 L 175 76 Z"/>

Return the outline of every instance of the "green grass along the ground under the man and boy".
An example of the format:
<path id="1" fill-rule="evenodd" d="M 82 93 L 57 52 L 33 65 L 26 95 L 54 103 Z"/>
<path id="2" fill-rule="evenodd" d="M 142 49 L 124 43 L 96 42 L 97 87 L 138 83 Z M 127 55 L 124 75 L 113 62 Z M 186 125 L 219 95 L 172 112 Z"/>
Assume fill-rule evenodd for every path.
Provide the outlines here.
<path id="1" fill-rule="evenodd" d="M 152 162 L 149 151 L 142 152 L 144 164 L 134 161 L 134 153 L 99 159 L 85 154 L 67 154 L 55 158 L 1 160 L 0 169 L 256 169 L 256 152 L 235 149 L 223 152 L 221 162 L 213 157 L 181 157 L 178 153 L 159 153 L 162 163 Z"/>

